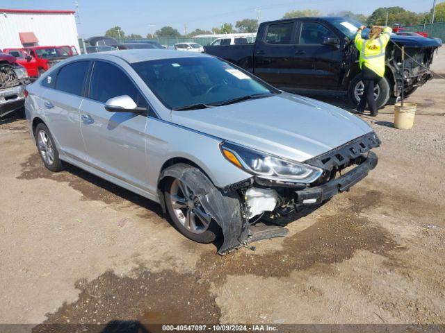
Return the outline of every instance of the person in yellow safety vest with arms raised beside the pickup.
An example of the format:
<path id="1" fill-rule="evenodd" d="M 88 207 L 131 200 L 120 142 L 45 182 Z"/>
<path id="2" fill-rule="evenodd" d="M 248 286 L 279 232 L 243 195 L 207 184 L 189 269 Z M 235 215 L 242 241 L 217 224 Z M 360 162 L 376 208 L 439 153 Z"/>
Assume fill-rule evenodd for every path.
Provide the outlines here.
<path id="1" fill-rule="evenodd" d="M 371 110 L 371 116 L 375 117 L 378 108 L 374 99 L 374 87 L 385 75 L 385 49 L 391 37 L 392 29 L 388 26 L 373 26 L 369 33 L 369 39 L 362 38 L 362 31 L 366 26 L 361 26 L 355 35 L 355 47 L 360 52 L 360 69 L 364 91 L 357 112 L 364 113 L 366 103 Z"/>

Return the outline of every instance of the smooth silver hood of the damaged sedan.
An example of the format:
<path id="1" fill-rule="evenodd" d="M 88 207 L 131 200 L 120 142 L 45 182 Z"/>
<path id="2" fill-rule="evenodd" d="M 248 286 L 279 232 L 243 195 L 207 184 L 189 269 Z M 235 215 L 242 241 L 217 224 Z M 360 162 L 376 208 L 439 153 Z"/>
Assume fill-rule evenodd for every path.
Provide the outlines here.
<path id="1" fill-rule="evenodd" d="M 372 131 L 345 110 L 286 92 L 209 109 L 172 111 L 172 122 L 298 162 Z"/>

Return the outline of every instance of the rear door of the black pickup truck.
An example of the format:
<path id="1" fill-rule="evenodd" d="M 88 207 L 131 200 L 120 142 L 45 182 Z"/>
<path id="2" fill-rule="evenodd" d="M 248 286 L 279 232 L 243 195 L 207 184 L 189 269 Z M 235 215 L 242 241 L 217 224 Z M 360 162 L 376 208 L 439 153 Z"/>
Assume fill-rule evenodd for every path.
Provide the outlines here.
<path id="1" fill-rule="evenodd" d="M 296 52 L 296 23 L 266 26 L 255 42 L 254 73 L 277 87 L 294 85 L 293 57 Z"/>

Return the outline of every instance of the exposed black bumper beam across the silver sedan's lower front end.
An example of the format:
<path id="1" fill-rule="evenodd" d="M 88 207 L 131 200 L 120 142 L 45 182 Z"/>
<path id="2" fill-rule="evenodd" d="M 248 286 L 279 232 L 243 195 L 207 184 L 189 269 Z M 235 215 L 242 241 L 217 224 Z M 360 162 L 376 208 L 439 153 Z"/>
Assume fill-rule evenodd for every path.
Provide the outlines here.
<path id="1" fill-rule="evenodd" d="M 368 157 L 366 157 L 366 160 L 348 173 L 345 173 L 343 176 L 330 180 L 323 185 L 307 187 L 306 189 L 295 191 L 296 205 L 319 204 L 329 198 L 332 198 L 332 196 L 335 196 L 336 194 L 348 191 L 350 187 L 365 178 L 369 171 L 375 168 L 377 162 L 377 155 L 370 151 Z"/>

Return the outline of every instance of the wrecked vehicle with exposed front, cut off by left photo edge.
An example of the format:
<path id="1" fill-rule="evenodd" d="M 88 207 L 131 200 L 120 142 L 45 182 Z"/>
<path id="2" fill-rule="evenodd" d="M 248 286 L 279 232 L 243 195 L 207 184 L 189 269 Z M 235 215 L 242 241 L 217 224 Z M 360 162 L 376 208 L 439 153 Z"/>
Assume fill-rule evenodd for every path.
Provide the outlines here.
<path id="1" fill-rule="evenodd" d="M 27 83 L 26 68 L 15 57 L 0 53 L 0 117 L 23 108 Z"/>

